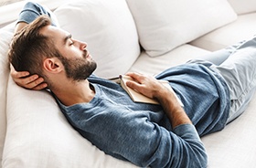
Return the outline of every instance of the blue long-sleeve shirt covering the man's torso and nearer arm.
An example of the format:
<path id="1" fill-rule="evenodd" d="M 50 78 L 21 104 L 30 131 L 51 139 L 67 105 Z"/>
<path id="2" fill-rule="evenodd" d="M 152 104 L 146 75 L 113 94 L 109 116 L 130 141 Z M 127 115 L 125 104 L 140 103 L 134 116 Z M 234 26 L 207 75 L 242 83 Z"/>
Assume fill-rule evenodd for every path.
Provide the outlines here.
<path id="1" fill-rule="evenodd" d="M 91 102 L 59 105 L 83 137 L 116 158 L 142 167 L 206 167 L 198 134 L 224 128 L 229 115 L 226 83 L 200 64 L 169 68 L 156 78 L 169 81 L 195 127 L 172 128 L 160 105 L 134 103 L 119 84 L 93 75 L 89 80 L 96 94 Z"/>

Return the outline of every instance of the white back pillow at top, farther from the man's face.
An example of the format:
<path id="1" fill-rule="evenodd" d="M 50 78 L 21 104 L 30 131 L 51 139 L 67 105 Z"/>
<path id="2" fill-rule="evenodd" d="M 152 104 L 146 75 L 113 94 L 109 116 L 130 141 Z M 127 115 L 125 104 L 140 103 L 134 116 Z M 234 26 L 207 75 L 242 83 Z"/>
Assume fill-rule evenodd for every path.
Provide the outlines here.
<path id="1" fill-rule="evenodd" d="M 152 57 L 237 18 L 226 0 L 126 0 L 141 45 Z"/>

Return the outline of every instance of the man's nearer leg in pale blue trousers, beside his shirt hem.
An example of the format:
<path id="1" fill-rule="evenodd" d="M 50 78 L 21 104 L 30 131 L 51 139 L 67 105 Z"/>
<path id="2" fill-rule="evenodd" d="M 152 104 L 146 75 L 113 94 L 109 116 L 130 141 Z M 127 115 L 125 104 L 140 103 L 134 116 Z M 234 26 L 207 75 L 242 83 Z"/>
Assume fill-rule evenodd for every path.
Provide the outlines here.
<path id="1" fill-rule="evenodd" d="M 233 121 L 246 109 L 256 88 L 256 37 L 240 43 L 223 63 L 212 66 L 226 80 L 231 108 L 229 120 Z"/>

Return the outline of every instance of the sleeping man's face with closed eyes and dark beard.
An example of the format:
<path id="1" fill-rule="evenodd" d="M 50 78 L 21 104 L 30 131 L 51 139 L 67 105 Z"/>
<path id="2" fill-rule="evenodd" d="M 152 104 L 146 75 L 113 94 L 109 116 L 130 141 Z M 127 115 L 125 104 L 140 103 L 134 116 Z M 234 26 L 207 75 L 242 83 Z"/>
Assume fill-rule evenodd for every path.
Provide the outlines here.
<path id="1" fill-rule="evenodd" d="M 97 68 L 96 62 L 86 49 L 86 43 L 73 39 L 68 32 L 55 26 L 46 26 L 41 33 L 50 37 L 59 50 L 62 56 L 59 59 L 65 68 L 67 78 L 84 80 Z"/>

